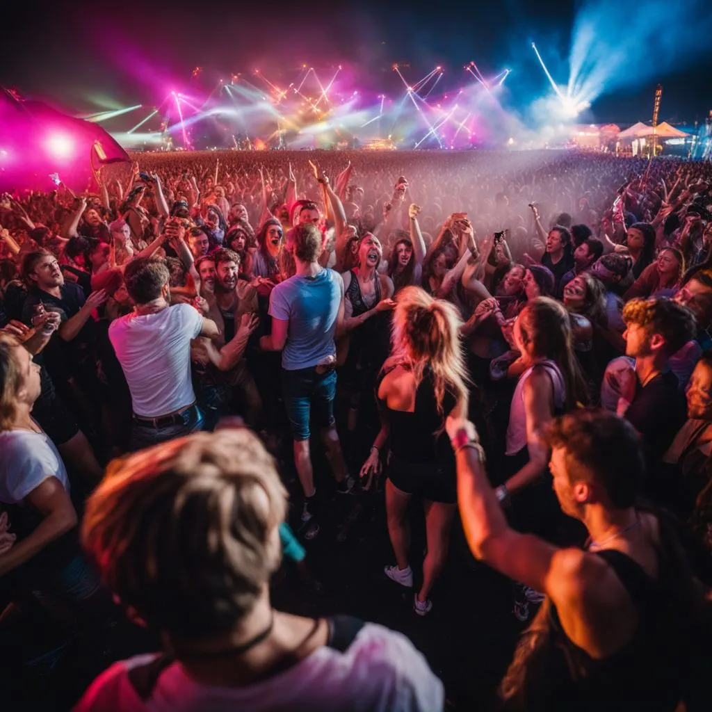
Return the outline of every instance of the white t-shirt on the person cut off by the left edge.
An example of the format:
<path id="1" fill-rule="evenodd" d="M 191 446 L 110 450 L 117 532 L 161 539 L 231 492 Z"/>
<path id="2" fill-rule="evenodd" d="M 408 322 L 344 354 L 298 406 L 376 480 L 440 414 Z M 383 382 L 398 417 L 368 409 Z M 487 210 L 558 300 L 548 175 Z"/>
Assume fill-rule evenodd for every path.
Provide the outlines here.
<path id="1" fill-rule="evenodd" d="M 0 502 L 19 504 L 50 477 L 69 492 L 66 468 L 46 433 L 0 432 Z"/>

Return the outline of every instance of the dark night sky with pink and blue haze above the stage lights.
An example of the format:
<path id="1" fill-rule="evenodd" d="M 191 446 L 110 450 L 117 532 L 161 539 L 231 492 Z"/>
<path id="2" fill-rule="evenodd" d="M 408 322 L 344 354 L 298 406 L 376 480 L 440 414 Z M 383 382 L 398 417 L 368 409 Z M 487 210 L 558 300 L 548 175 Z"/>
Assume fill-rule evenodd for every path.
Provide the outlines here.
<path id="1" fill-rule="evenodd" d="M 659 0 L 631 2 L 637 9 L 632 14 L 627 4 L 614 3 L 617 14 L 602 15 L 599 25 L 612 53 L 629 46 L 618 36 L 632 40 L 629 58 L 622 59 L 624 75 L 615 73 L 616 86 L 604 84 L 587 117 L 622 124 L 649 120 L 654 88 L 661 82 L 661 119 L 687 124 L 703 119 L 712 108 L 712 42 L 709 35 L 703 41 L 690 33 L 708 29 L 712 13 L 705 3 L 684 0 L 669 3 L 669 14 L 651 20 L 646 7 L 659 12 Z M 463 66 L 474 60 L 486 77 L 513 70 L 504 103 L 525 115 L 535 98 L 551 91 L 531 42 L 536 41 L 557 83 L 565 84 L 581 8 L 565 0 L 501 0 L 486 6 L 449 0 L 263 2 L 246 9 L 211 0 L 103 5 L 6 4 L 0 84 L 66 110 L 92 112 L 155 104 L 172 83 L 187 86 L 195 66 L 203 68 L 201 83 L 209 88 L 221 76 L 256 67 L 288 82 L 303 62 L 328 77 L 343 62 L 354 85 L 396 93 L 402 84 L 394 62 L 404 66 L 409 80 L 441 64 L 446 70 L 442 84 L 451 90 L 472 81 Z M 705 15 L 702 23 L 698 11 Z M 653 26 L 637 42 L 644 17 Z M 697 41 L 701 45 L 693 53 L 682 51 Z"/>

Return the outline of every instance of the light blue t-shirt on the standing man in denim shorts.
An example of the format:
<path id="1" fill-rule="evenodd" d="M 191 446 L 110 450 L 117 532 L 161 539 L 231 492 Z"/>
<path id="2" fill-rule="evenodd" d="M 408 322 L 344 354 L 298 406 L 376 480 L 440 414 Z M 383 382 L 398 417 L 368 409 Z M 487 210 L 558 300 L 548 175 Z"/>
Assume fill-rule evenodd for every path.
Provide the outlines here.
<path id="1" fill-rule="evenodd" d="M 282 352 L 284 369 L 309 368 L 336 355 L 334 334 L 343 293 L 341 275 L 331 269 L 314 277 L 295 275 L 272 290 L 270 316 L 289 322 Z"/>

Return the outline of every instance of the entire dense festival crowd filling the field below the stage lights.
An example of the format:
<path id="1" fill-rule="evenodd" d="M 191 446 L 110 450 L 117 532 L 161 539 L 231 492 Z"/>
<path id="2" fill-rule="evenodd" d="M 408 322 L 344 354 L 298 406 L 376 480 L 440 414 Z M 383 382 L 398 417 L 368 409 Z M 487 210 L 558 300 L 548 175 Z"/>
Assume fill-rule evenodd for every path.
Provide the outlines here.
<path id="1" fill-rule="evenodd" d="M 134 158 L 0 199 L 6 669 L 66 645 L 19 656 L 27 617 L 101 646 L 126 614 L 162 654 L 80 710 L 442 708 L 406 637 L 271 606 L 283 557 L 319 590 L 343 496 L 384 503 L 413 614 L 459 525 L 511 579 L 499 705 L 708 703 L 710 164 Z"/>

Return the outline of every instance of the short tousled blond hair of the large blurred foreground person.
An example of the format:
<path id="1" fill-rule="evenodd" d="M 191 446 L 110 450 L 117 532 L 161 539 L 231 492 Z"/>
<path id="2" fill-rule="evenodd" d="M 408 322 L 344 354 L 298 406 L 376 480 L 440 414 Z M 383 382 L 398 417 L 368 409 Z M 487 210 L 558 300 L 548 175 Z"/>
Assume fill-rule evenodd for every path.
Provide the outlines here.
<path id="1" fill-rule="evenodd" d="M 109 464 L 81 537 L 123 604 L 172 637 L 229 631 L 281 561 L 286 491 L 247 429 L 196 433 Z"/>

